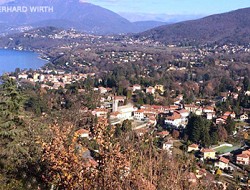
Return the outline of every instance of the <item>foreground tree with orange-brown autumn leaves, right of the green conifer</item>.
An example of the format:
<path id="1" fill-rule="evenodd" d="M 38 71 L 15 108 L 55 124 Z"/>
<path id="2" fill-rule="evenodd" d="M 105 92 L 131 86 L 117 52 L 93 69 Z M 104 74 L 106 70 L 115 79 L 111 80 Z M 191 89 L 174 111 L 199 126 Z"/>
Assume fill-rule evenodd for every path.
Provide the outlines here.
<path id="1" fill-rule="evenodd" d="M 88 174 L 90 168 L 85 164 L 83 153 L 87 150 L 77 144 L 77 136 L 71 134 L 73 126 L 59 127 L 54 125 L 51 129 L 51 140 L 41 141 L 44 150 L 42 161 L 47 167 L 44 180 L 53 187 L 62 189 L 85 189 L 91 179 Z M 93 174 L 95 173 L 92 170 Z"/>

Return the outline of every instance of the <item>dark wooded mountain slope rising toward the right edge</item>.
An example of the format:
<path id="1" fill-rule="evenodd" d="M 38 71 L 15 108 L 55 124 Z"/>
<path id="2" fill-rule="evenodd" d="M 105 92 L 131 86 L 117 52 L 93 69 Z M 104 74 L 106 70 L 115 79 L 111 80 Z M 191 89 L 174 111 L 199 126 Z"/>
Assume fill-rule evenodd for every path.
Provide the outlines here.
<path id="1" fill-rule="evenodd" d="M 160 26 L 135 35 L 167 44 L 250 43 L 250 8 Z"/>

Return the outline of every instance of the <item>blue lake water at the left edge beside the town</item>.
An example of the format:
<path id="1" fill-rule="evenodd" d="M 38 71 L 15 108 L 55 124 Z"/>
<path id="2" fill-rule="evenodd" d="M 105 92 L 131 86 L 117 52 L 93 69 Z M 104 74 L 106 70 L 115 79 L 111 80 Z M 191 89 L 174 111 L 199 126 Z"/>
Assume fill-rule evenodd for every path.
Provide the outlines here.
<path id="1" fill-rule="evenodd" d="M 0 49 L 0 75 L 15 71 L 16 68 L 39 69 L 45 63 L 47 61 L 40 59 L 34 52 Z"/>

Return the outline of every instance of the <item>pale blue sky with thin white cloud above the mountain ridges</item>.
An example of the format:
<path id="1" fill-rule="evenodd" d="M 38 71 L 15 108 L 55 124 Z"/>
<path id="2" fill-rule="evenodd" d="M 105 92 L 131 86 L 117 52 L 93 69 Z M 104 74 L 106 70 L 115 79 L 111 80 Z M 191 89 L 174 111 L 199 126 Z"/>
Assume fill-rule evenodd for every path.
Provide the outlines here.
<path id="1" fill-rule="evenodd" d="M 0 0 L 0 4 L 10 0 Z M 24 0 L 25 1 L 25 0 Z M 41 0 L 39 0 L 41 1 Z M 67 1 L 67 0 L 65 0 Z M 250 7 L 250 0 L 80 0 L 114 11 L 131 21 L 202 17 Z"/>

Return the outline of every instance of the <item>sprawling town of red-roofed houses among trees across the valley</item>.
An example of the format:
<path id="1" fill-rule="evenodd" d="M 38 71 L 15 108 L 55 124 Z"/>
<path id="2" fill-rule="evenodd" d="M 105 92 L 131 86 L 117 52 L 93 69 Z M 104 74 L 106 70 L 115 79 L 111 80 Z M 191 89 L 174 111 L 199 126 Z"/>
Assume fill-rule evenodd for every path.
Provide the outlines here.
<path id="1" fill-rule="evenodd" d="M 127 131 L 138 139 L 150 135 L 169 159 L 193 160 L 190 184 L 249 186 L 250 44 L 183 46 L 74 30 L 40 33 L 24 32 L 22 38 L 55 42 L 49 51 L 32 49 L 48 64 L 6 74 L 21 87 L 51 95 L 41 106 L 40 100 L 30 99 L 27 110 L 46 119 L 52 111 L 44 108 L 52 104 L 49 110 L 72 109 L 106 123 L 117 137 Z M 9 38 L 8 47 L 3 46 L 30 48 L 14 42 Z M 80 126 L 77 137 L 92 142 L 95 132 Z M 85 154 L 90 155 L 90 147 Z M 97 167 L 92 156 L 88 159 Z"/>

